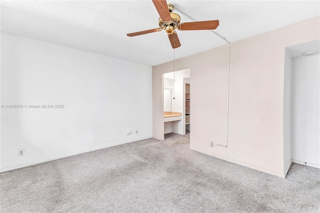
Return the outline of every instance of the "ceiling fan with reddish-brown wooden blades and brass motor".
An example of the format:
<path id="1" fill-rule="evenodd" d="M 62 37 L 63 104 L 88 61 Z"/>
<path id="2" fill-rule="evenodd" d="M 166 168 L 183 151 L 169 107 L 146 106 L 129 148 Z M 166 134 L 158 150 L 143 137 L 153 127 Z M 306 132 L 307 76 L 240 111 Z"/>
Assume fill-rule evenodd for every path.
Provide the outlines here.
<path id="1" fill-rule="evenodd" d="M 181 18 L 178 14 L 172 12 L 174 10 L 173 3 L 166 3 L 165 0 L 152 0 L 156 10 L 158 11 L 160 28 L 148 29 L 139 32 L 126 34 L 127 36 L 136 36 L 151 32 L 158 32 L 162 29 L 168 34 L 172 48 L 181 46 L 179 38 L 174 29 L 179 30 L 201 30 L 215 29 L 219 25 L 219 20 L 205 20 L 181 23 Z"/>

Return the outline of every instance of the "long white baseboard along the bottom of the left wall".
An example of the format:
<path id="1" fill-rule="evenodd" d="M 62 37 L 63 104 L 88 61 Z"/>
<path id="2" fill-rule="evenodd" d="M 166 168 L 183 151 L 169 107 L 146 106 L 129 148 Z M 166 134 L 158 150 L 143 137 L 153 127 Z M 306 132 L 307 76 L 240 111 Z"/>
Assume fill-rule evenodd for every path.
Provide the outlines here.
<path id="1" fill-rule="evenodd" d="M 72 153 L 68 153 L 68 154 L 64 154 L 64 155 L 60 155 L 60 156 L 56 156 L 56 157 L 50 157 L 50 158 L 43 159 L 43 160 L 37 160 L 37 161 L 33 161 L 33 162 L 22 163 L 22 164 L 19 164 L 19 165 L 13 165 L 13 166 L 1 168 L 0 172 L 10 171 L 10 170 L 14 170 L 14 169 L 17 169 L 17 168 L 23 168 L 23 167 L 27 167 L 27 166 L 30 166 L 30 165 L 35 165 L 35 164 L 39 164 L 39 163 L 43 163 L 43 162 L 48 162 L 48 161 L 51 161 L 51 160 L 61 159 L 61 158 L 64 158 L 64 157 L 70 157 L 70 156 L 74 156 L 74 155 L 77 155 L 77 154 L 82 154 L 82 153 L 85 153 L 85 152 L 95 151 L 95 150 L 99 150 L 99 149 L 103 149 L 103 148 L 108 148 L 108 147 L 112 147 L 112 146 L 116 146 L 116 145 L 122 145 L 122 144 L 125 144 L 125 143 L 135 142 L 135 141 L 138 141 L 138 140 L 144 140 L 144 139 L 148 139 L 148 138 L 152 138 L 152 136 L 146 136 L 146 137 L 141 137 L 141 138 L 132 139 L 132 140 L 125 140 L 125 141 L 120 141 L 120 142 L 109 143 L 107 145 L 94 147 L 94 148 L 90 148 L 90 149 L 86 149 L 86 150 L 82 150 L 82 151 L 76 151 L 76 152 L 72 152 Z"/>

